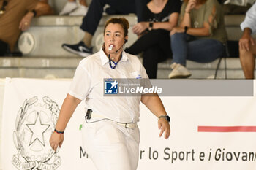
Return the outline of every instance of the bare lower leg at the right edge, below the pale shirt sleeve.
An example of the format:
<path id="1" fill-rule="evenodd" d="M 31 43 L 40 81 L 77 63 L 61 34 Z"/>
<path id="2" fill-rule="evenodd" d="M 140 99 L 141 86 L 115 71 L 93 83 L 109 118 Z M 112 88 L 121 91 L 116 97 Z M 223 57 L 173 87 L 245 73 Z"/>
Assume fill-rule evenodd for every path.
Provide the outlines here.
<path id="1" fill-rule="evenodd" d="M 244 71 L 244 77 L 246 79 L 254 79 L 255 72 L 255 57 L 256 55 L 256 44 L 250 46 L 250 50 L 247 51 L 239 47 L 239 55 L 242 69 Z"/>

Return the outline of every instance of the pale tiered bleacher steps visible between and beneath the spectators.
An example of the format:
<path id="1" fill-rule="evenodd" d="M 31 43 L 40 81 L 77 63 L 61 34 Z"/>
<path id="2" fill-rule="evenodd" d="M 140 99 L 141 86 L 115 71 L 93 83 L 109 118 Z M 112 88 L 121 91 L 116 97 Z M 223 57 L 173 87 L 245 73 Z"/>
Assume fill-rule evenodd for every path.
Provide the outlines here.
<path id="1" fill-rule="evenodd" d="M 56 13 L 59 13 L 66 1 L 50 0 Z M 120 15 L 104 15 L 92 40 L 94 52 L 97 52 L 102 45 L 102 31 L 106 20 L 110 17 Z M 125 15 L 130 26 L 137 23 L 135 15 Z M 83 16 L 42 16 L 34 18 L 31 28 L 26 31 L 34 38 L 33 50 L 22 58 L 0 58 L 0 77 L 56 77 L 72 78 L 78 62 L 82 59 L 61 48 L 62 43 L 76 43 L 83 38 L 83 31 L 79 26 Z M 238 40 L 242 31 L 240 23 L 244 15 L 225 15 L 225 25 L 229 40 Z M 132 45 L 137 36 L 129 29 L 129 41 L 127 47 Z M 238 56 L 227 58 L 227 78 L 244 78 Z M 170 60 L 159 63 L 157 78 L 167 78 L 170 73 Z M 217 61 L 211 63 L 187 62 L 188 69 L 192 72 L 190 78 L 213 78 Z M 224 78 L 224 61 L 220 63 L 217 78 Z"/>

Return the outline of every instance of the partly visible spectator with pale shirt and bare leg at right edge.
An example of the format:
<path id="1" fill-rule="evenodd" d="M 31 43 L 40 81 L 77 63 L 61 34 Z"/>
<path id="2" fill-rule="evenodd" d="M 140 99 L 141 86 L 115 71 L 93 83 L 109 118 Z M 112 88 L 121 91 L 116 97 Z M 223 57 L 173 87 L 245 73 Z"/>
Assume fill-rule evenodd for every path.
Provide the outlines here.
<path id="1" fill-rule="evenodd" d="M 246 12 L 245 20 L 241 23 L 241 29 L 244 31 L 239 40 L 241 66 L 244 77 L 254 79 L 255 58 L 253 55 L 256 55 L 256 39 L 252 39 L 251 34 L 256 34 L 256 3 Z"/>

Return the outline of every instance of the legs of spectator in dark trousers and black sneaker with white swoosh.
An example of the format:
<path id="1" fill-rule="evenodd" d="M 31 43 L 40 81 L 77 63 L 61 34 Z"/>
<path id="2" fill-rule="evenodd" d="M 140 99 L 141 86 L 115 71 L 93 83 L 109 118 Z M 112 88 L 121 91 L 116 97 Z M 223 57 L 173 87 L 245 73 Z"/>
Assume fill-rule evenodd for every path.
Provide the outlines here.
<path id="1" fill-rule="evenodd" d="M 124 14 L 136 13 L 138 21 L 141 21 L 141 9 L 148 0 L 92 0 L 83 23 L 80 28 L 85 31 L 83 40 L 75 45 L 63 44 L 62 47 L 70 53 L 75 53 L 82 57 L 92 54 L 91 39 L 102 18 L 105 4 L 109 4 L 108 13 Z"/>

